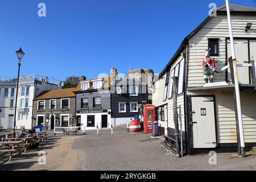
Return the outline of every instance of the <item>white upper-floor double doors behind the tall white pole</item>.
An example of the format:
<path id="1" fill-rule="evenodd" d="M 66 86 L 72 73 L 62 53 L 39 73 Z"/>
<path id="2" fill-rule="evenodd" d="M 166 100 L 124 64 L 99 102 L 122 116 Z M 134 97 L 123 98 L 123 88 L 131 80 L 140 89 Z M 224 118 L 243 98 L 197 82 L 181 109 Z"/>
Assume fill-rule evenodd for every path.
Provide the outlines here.
<path id="1" fill-rule="evenodd" d="M 234 40 L 236 49 L 237 64 L 244 64 L 244 61 L 249 61 L 248 57 L 248 41 L 247 40 Z M 232 56 L 230 43 L 228 43 L 228 58 Z M 237 68 L 238 81 L 241 84 L 250 84 L 249 82 L 249 68 Z M 230 69 L 228 69 L 228 80 L 231 82 Z"/>

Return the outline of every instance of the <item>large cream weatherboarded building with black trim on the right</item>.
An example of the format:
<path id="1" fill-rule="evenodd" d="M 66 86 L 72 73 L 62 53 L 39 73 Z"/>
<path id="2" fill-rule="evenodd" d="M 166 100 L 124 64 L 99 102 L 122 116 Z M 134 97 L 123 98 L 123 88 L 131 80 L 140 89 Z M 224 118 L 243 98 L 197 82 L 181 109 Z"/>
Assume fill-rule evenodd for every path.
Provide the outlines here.
<path id="1" fill-rule="evenodd" d="M 256 61 L 256 8 L 230 5 L 237 64 Z M 246 30 L 247 23 L 252 23 Z M 211 48 L 216 61 L 214 84 L 205 85 L 202 61 Z M 234 85 L 228 65 L 231 56 L 226 6 L 217 9 L 217 16 L 208 16 L 191 32 L 171 61 L 154 81 L 152 102 L 167 143 L 175 140 L 173 112 L 174 76 L 179 77 L 177 106 L 181 107 L 184 153 L 191 155 L 202 149 L 237 146 Z M 246 146 L 256 144 L 255 67 L 239 67 L 242 117 Z M 178 108 L 179 112 L 179 108 Z M 171 145 L 170 145 L 171 146 Z"/>

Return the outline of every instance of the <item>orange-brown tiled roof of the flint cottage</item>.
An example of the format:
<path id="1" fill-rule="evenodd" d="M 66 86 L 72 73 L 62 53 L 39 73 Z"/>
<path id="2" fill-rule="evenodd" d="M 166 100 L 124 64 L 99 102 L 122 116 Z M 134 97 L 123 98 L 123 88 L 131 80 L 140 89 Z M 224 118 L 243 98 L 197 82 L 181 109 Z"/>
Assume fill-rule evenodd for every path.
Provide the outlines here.
<path id="1" fill-rule="evenodd" d="M 41 93 L 38 97 L 35 98 L 35 100 L 75 97 L 75 93 L 73 92 L 80 90 L 80 88 L 81 85 L 79 84 L 76 88 L 49 90 Z"/>

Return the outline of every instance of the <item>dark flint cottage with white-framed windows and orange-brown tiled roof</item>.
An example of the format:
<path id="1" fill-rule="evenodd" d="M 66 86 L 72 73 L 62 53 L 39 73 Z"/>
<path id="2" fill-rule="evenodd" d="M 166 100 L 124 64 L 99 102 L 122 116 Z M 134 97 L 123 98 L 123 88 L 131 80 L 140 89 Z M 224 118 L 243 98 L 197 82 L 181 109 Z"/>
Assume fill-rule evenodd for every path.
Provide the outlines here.
<path id="1" fill-rule="evenodd" d="M 34 99 L 33 126 L 43 125 L 46 130 L 55 127 L 76 126 L 76 88 L 43 92 Z"/>

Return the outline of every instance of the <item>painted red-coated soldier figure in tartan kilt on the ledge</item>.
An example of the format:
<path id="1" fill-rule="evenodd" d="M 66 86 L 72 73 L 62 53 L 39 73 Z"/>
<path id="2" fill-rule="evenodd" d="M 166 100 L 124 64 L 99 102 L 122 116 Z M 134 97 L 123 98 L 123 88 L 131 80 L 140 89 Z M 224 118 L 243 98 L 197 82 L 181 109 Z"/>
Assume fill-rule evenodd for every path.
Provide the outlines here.
<path id="1" fill-rule="evenodd" d="M 206 84 L 210 81 L 213 83 L 213 76 L 215 71 L 215 61 L 213 57 L 210 57 L 210 51 L 205 51 L 205 59 L 203 60 L 204 67 L 204 81 Z"/>

